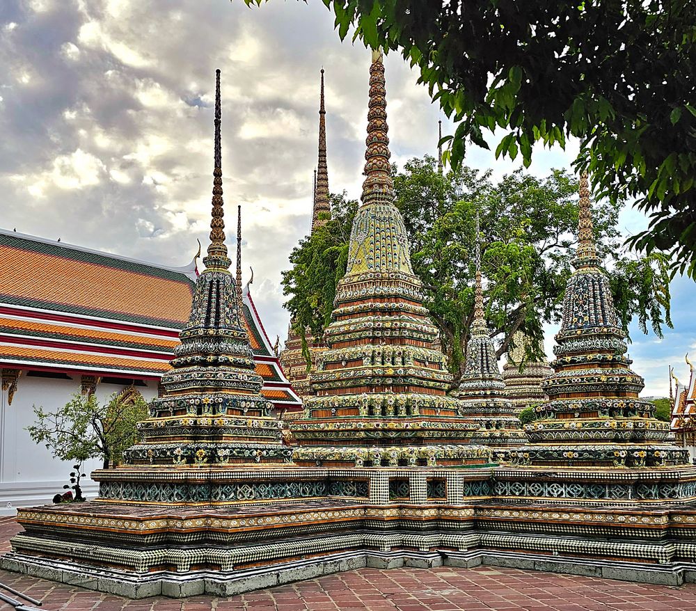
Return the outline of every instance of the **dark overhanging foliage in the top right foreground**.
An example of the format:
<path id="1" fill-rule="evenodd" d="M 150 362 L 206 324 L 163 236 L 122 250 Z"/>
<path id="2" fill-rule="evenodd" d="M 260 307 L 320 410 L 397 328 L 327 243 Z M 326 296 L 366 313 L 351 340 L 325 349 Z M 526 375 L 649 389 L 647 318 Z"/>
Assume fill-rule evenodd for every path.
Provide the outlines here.
<path id="1" fill-rule="evenodd" d="M 246 0 L 260 4 L 262 0 Z M 690 0 L 324 0 L 344 39 L 400 51 L 456 123 L 445 155 L 580 138 L 602 196 L 635 199 L 631 238 L 696 278 L 696 3 Z"/>

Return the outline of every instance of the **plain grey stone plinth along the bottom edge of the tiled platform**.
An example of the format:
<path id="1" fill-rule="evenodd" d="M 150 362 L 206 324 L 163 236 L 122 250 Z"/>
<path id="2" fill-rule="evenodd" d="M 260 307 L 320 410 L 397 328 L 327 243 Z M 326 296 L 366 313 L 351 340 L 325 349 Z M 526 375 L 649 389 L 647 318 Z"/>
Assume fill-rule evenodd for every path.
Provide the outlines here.
<path id="1" fill-rule="evenodd" d="M 433 569 L 438 566 L 452 566 L 470 569 L 480 565 L 658 585 L 679 586 L 683 583 L 696 583 L 696 563 L 659 566 L 634 562 L 560 559 L 549 555 L 530 557 L 529 554 L 484 550 L 470 553 L 416 550 L 356 551 L 271 564 L 246 571 L 192 571 L 185 576 L 175 573 L 136 576 L 122 571 L 95 570 L 90 566 L 63 564 L 21 555 L 3 560 L 2 568 L 54 582 L 78 585 L 105 594 L 140 599 L 150 596 L 188 598 L 201 594 L 234 596 L 365 567 Z"/>

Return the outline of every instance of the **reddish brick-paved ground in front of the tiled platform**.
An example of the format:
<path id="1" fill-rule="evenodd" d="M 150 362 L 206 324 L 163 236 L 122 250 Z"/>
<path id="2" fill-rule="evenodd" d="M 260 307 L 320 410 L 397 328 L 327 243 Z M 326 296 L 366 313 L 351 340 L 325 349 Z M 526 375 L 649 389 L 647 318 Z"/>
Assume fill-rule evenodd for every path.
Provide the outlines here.
<path id="1" fill-rule="evenodd" d="M 0 518 L 0 553 L 19 527 Z M 230 598 L 129 601 L 0 571 L 0 582 L 43 601 L 46 611 L 680 611 L 696 609 L 681 588 L 516 569 L 360 569 Z M 3 611 L 11 609 L 3 607 Z"/>

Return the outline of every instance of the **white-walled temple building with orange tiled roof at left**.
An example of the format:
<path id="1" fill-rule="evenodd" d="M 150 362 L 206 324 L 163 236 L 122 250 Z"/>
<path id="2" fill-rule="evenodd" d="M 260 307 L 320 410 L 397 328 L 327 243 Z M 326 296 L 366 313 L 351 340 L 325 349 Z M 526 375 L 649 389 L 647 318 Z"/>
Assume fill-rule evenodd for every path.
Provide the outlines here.
<path id="1" fill-rule="evenodd" d="M 164 267 L 65 242 L 0 230 L 0 514 L 50 500 L 72 463 L 31 441 L 33 406 L 56 411 L 75 393 L 100 402 L 128 389 L 157 397 L 189 319 L 197 270 Z M 301 412 L 255 308 L 242 320 L 262 394 L 279 415 Z M 98 461 L 85 465 L 86 473 Z M 88 496 L 97 485 L 83 486 Z"/>

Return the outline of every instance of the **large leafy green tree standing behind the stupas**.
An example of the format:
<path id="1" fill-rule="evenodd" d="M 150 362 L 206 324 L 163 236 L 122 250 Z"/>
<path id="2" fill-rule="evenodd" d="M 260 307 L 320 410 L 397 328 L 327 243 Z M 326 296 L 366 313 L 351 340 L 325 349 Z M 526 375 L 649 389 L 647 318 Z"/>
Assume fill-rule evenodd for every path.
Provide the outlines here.
<path id="1" fill-rule="evenodd" d="M 497 184 L 491 173 L 462 166 L 440 175 L 433 157 L 411 159 L 394 177 L 396 205 L 404 216 L 413 270 L 423 283 L 425 306 L 441 334 L 450 368 L 459 379 L 473 321 L 475 214 L 480 214 L 484 299 L 498 356 L 514 332 L 543 338 L 543 324 L 560 322 L 562 296 L 571 274 L 578 223 L 576 180 L 558 170 L 538 178 L 518 170 Z M 335 285 L 345 273 L 349 222 L 355 203 L 331 224 L 301 242 L 284 273 L 286 303 L 299 324 L 320 333 L 330 322 Z M 671 326 L 669 273 L 658 253 L 626 253 L 616 228 L 620 205 L 593 206 L 598 251 L 624 330 L 638 316 L 661 335 Z M 340 253 L 340 255 L 338 254 Z M 317 269 L 326 266 L 325 270 Z M 297 331 L 301 331 L 298 327 Z M 542 358 L 530 342 L 528 359 Z"/>

